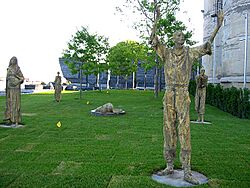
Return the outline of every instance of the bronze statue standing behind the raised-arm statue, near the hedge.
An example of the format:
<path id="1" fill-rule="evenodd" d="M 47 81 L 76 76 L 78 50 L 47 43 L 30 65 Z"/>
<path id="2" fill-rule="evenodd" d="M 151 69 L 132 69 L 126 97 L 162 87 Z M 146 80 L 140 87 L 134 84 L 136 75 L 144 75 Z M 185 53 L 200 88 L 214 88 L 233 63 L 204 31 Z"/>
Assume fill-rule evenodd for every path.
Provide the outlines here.
<path id="1" fill-rule="evenodd" d="M 205 69 L 201 69 L 200 75 L 196 77 L 195 111 L 198 113 L 198 122 L 204 123 L 206 87 L 208 76 Z"/>

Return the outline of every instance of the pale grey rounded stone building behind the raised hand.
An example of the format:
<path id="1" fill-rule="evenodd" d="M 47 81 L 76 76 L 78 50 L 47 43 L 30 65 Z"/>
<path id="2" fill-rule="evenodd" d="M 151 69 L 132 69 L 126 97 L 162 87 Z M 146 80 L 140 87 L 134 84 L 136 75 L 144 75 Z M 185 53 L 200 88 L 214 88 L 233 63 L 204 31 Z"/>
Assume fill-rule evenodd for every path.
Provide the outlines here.
<path id="1" fill-rule="evenodd" d="M 220 9 L 224 24 L 214 40 L 213 54 L 203 57 L 202 64 L 210 83 L 250 88 L 250 0 L 204 0 L 204 41 L 211 35 Z"/>

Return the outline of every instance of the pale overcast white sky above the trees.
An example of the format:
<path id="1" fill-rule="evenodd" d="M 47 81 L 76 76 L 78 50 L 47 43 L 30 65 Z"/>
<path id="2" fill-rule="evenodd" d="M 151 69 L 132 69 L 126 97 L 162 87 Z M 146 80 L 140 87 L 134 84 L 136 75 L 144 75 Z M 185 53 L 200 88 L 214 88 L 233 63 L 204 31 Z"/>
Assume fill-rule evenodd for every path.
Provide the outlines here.
<path id="1" fill-rule="evenodd" d="M 111 45 L 137 40 L 128 23 L 114 15 L 119 2 L 122 0 L 0 0 L 0 77 L 16 56 L 26 78 L 53 81 L 61 71 L 58 58 L 81 26 L 108 37 Z M 184 14 L 179 17 L 195 29 L 194 39 L 201 41 L 203 0 L 193 2 L 185 0 Z"/>

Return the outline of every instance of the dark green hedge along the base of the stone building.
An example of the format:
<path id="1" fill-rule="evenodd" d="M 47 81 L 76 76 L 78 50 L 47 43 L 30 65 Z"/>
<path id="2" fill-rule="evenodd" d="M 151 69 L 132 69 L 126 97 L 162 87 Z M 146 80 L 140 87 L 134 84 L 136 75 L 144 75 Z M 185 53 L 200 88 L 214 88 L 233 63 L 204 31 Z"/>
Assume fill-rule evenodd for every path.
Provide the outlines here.
<path id="1" fill-rule="evenodd" d="M 189 93 L 195 96 L 196 83 L 190 81 Z M 250 119 L 250 91 L 236 87 L 223 88 L 220 84 L 208 84 L 206 103 L 244 119 Z"/>

